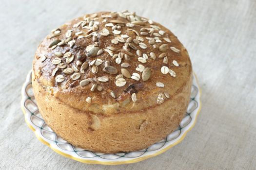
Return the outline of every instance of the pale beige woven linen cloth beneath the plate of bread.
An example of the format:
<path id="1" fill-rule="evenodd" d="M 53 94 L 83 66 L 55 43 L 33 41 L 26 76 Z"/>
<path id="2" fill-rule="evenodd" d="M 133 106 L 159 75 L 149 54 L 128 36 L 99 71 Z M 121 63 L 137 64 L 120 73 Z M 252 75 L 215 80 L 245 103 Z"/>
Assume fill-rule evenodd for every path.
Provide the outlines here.
<path id="1" fill-rule="evenodd" d="M 124 9 L 178 36 L 202 88 L 202 110 L 185 139 L 161 155 L 129 165 L 82 164 L 53 152 L 27 127 L 21 86 L 50 30 L 85 13 Z M 0 30 L 0 169 L 255 170 L 255 0 L 2 0 Z"/>

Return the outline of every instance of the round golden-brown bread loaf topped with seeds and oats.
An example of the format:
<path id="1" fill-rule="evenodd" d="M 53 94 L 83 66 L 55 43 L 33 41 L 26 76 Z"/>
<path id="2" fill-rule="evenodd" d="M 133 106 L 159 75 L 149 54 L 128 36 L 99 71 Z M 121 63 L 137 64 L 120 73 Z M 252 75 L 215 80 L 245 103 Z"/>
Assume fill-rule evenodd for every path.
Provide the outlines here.
<path id="1" fill-rule="evenodd" d="M 43 39 L 32 84 L 58 136 L 94 152 L 131 152 L 177 128 L 190 101 L 192 65 L 162 25 L 134 12 L 99 12 Z"/>

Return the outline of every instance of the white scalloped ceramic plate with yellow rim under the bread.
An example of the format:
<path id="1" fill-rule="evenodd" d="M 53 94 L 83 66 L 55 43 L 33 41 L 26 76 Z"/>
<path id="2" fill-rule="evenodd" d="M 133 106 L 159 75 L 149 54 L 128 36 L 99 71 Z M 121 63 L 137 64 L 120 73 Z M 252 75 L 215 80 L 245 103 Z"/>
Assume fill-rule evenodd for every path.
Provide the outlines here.
<path id="1" fill-rule="evenodd" d="M 152 146 L 137 152 L 115 154 L 95 153 L 71 145 L 70 143 L 57 136 L 51 130 L 51 128 L 47 126 L 47 124 L 40 116 L 37 102 L 33 94 L 31 72 L 32 71 L 28 73 L 26 82 L 24 83 L 21 90 L 21 108 L 24 112 L 27 125 L 34 131 L 37 138 L 42 143 L 49 146 L 52 150 L 63 156 L 69 157 L 82 163 L 105 165 L 127 164 L 142 161 L 163 153 L 181 142 L 186 136 L 187 132 L 194 127 L 201 108 L 200 90 L 196 75 L 194 74 L 191 100 L 187 112 L 177 127 L 176 131 L 169 134 L 164 139 L 153 144 Z"/>

